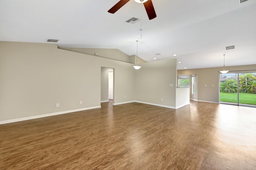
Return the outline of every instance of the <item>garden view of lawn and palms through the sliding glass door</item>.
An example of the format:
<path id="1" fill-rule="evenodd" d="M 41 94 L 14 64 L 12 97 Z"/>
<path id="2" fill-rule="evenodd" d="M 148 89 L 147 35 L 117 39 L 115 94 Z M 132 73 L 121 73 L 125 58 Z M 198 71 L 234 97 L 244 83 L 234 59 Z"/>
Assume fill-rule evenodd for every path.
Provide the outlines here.
<path id="1" fill-rule="evenodd" d="M 220 74 L 220 103 L 256 107 L 256 73 Z"/>

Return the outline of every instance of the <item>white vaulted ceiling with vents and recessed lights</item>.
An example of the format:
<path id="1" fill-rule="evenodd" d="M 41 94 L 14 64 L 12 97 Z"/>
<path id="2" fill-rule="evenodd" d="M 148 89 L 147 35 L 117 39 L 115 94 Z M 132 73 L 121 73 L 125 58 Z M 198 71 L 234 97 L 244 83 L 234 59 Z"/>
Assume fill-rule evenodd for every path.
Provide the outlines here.
<path id="1" fill-rule="evenodd" d="M 150 62 L 175 58 L 178 69 L 256 64 L 256 0 L 152 0 L 157 17 L 130 0 L 0 0 L 0 41 L 114 48 Z M 143 8 L 141 8 L 143 7 Z M 141 22 L 124 21 L 142 18 Z M 236 49 L 225 50 L 236 45 Z M 161 55 L 155 55 L 160 53 Z M 157 59 L 154 60 L 153 58 Z"/>

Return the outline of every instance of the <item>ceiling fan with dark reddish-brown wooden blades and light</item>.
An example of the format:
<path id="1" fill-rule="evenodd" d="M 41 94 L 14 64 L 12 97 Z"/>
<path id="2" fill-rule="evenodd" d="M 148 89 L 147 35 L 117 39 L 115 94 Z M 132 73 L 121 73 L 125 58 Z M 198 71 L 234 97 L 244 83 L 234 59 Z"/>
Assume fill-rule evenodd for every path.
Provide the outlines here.
<path id="1" fill-rule="evenodd" d="M 130 0 L 120 0 L 117 2 L 110 10 L 108 10 L 109 13 L 114 14 L 116 11 L 118 11 L 122 6 L 124 6 L 127 2 Z M 152 20 L 156 18 L 156 12 L 153 6 L 153 3 L 151 0 L 135 0 L 135 2 L 143 3 L 146 12 L 148 14 L 148 19 Z"/>

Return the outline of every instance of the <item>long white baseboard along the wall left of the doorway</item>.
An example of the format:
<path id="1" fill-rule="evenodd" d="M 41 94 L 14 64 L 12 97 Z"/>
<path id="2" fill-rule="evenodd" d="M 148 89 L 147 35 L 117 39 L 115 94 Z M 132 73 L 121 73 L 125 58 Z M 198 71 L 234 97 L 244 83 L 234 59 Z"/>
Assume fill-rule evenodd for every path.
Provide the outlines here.
<path id="1" fill-rule="evenodd" d="M 6 124 L 6 123 L 19 122 L 19 121 L 27 121 L 27 120 L 30 120 L 30 119 L 38 119 L 38 118 L 42 118 L 42 117 L 48 117 L 48 116 L 55 116 L 55 115 L 61 115 L 61 114 L 66 114 L 66 113 L 78 112 L 78 111 L 85 111 L 85 110 L 89 110 L 89 109 L 97 109 L 97 108 L 101 108 L 101 106 L 86 107 L 86 108 L 74 109 L 74 110 L 70 110 L 70 111 L 62 111 L 62 112 L 56 112 L 56 113 L 48 113 L 48 114 L 44 114 L 44 115 L 22 117 L 22 118 L 18 118 L 18 119 L 7 120 L 7 121 L 0 121 L 0 125 Z"/>

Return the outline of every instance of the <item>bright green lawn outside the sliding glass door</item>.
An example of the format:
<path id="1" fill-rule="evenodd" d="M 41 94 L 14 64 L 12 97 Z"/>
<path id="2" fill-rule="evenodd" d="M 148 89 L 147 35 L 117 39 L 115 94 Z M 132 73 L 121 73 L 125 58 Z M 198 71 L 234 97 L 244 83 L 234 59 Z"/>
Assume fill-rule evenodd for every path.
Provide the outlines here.
<path id="1" fill-rule="evenodd" d="M 220 101 L 237 103 L 237 93 L 221 93 Z M 239 93 L 239 103 L 256 105 L 256 94 Z"/>

